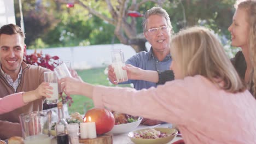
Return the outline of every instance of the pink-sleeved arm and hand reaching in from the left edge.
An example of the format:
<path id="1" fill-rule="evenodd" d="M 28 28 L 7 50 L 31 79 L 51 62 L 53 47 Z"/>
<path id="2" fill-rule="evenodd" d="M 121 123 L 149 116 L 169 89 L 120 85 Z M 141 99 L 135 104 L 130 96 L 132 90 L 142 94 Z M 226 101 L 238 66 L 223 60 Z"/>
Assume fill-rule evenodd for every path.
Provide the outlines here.
<path id="1" fill-rule="evenodd" d="M 48 89 L 53 89 L 53 87 L 49 86 L 49 83 L 42 82 L 34 91 L 14 93 L 7 97 L 0 98 L 0 114 L 18 109 L 43 96 L 50 98 L 48 94 L 53 94 L 53 92 Z"/>

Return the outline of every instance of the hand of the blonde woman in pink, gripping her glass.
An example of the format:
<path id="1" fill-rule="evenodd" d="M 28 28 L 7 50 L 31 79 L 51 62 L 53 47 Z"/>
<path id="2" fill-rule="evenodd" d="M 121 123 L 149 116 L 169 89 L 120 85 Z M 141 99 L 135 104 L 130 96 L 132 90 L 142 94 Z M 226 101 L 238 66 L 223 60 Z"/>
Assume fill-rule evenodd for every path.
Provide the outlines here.
<path id="1" fill-rule="evenodd" d="M 74 77 L 65 77 L 59 82 L 61 83 L 61 89 L 67 95 L 77 94 L 80 91 L 79 84 L 82 83 L 82 81 Z"/>

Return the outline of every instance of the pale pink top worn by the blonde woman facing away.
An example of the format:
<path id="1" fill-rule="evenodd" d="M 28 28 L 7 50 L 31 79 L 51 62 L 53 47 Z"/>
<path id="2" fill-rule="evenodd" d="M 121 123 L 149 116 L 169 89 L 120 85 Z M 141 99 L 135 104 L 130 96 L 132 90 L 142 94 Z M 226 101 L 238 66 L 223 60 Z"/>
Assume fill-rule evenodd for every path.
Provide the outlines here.
<path id="1" fill-rule="evenodd" d="M 157 88 L 97 86 L 96 107 L 176 123 L 186 144 L 256 143 L 256 100 L 249 91 L 228 93 L 200 75 Z"/>

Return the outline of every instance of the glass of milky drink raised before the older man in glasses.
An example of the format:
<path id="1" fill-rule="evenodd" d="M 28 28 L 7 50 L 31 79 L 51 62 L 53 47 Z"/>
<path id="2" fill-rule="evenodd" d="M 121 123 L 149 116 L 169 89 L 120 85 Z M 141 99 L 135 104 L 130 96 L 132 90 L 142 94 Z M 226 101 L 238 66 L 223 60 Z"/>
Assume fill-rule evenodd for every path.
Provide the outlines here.
<path id="1" fill-rule="evenodd" d="M 111 52 L 112 55 L 112 67 L 114 68 L 115 76 L 117 77 L 117 82 L 124 82 L 128 80 L 126 70 L 122 67 L 125 66 L 124 52 L 121 49 L 115 49 Z"/>

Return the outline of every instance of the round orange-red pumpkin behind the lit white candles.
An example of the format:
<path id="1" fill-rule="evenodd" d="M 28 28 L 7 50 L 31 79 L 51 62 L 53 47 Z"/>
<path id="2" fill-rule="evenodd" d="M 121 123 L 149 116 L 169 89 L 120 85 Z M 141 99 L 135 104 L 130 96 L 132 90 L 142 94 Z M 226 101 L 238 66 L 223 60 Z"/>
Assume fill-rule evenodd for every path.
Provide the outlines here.
<path id="1" fill-rule="evenodd" d="M 97 134 L 104 134 L 110 131 L 115 124 L 115 118 L 112 112 L 106 109 L 90 109 L 86 112 L 86 122 L 89 122 L 89 118 L 91 117 L 91 122 L 95 122 L 96 124 L 96 133 Z"/>

